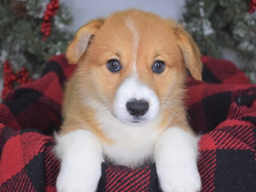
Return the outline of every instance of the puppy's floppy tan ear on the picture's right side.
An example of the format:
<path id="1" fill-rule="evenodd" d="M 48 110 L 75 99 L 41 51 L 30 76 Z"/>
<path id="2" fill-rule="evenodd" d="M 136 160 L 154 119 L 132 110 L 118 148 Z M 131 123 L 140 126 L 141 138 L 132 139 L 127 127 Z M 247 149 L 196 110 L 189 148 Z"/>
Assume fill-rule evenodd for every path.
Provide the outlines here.
<path id="1" fill-rule="evenodd" d="M 178 44 L 183 53 L 186 68 L 194 79 L 202 81 L 203 64 L 197 44 L 182 25 L 177 24 L 172 20 L 169 20 L 169 22 L 174 29 L 175 35 L 177 35 Z"/>

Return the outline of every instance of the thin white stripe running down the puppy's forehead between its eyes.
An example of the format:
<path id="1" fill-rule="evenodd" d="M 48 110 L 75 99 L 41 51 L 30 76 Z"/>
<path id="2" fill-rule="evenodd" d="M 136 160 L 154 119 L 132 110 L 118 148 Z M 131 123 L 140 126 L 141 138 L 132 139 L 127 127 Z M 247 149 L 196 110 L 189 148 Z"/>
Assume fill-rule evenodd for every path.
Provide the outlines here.
<path id="1" fill-rule="evenodd" d="M 134 35 L 132 67 L 133 67 L 133 72 L 136 72 L 137 71 L 137 68 L 136 68 L 136 57 L 137 57 L 137 49 L 138 49 L 138 42 L 139 42 L 138 31 L 137 31 L 134 23 L 130 19 L 126 20 L 126 25 L 128 26 L 129 29 L 131 29 L 131 32 Z"/>

